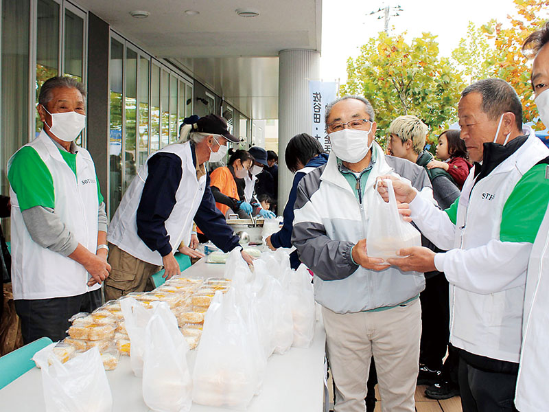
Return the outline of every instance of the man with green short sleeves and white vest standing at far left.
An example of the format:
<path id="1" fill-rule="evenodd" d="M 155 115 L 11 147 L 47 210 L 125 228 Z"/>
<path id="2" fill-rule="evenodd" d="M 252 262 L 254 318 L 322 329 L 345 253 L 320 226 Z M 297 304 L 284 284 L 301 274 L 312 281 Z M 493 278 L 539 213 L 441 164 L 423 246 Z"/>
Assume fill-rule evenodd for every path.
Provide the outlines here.
<path id="1" fill-rule="evenodd" d="M 73 314 L 100 306 L 110 271 L 95 165 L 74 143 L 86 126 L 85 96 L 73 78 L 47 80 L 37 106 L 43 129 L 8 163 L 12 284 L 24 343 L 63 339 Z"/>

